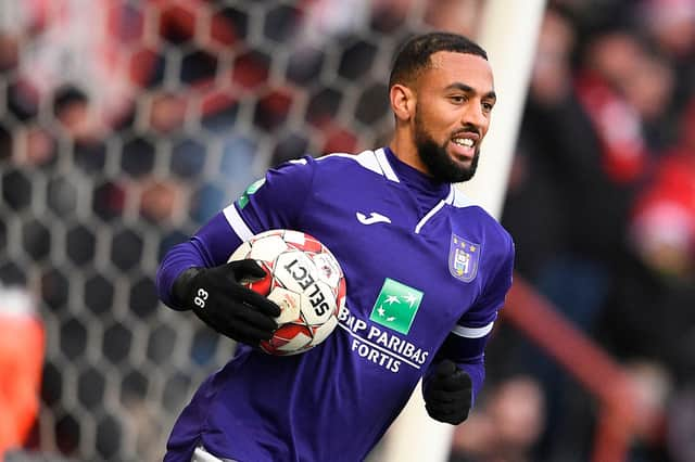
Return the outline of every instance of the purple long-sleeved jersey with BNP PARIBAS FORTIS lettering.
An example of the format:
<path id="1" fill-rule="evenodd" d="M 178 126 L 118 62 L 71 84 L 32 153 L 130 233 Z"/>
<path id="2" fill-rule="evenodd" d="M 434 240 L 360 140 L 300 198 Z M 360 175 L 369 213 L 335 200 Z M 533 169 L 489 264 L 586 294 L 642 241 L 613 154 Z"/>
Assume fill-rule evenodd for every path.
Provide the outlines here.
<path id="1" fill-rule="evenodd" d="M 314 235 L 340 261 L 339 325 L 296 356 L 240 345 L 182 411 L 165 461 L 188 462 L 197 445 L 238 461 L 364 460 L 435 356 L 480 389 L 514 262 L 511 238 L 482 208 L 389 149 L 293 161 L 167 254 L 162 299 L 172 303 L 184 269 L 224 264 L 242 241 L 278 228 Z"/>

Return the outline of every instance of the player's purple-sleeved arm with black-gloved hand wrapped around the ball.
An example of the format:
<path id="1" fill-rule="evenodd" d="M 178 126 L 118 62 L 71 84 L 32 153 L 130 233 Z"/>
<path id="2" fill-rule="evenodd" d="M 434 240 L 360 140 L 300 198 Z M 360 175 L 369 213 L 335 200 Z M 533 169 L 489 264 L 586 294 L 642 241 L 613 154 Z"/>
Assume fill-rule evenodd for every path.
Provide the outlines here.
<path id="1" fill-rule="evenodd" d="M 227 262 L 252 235 L 268 229 L 298 229 L 302 197 L 307 193 L 311 162 L 288 163 L 269 170 L 243 195 L 205 223 L 189 241 L 167 252 L 156 275 L 160 298 L 178 310 L 191 309 L 215 331 L 257 345 L 277 329 L 278 306 L 239 281 L 263 278 L 252 260 Z"/>

